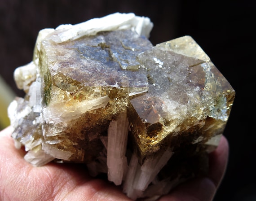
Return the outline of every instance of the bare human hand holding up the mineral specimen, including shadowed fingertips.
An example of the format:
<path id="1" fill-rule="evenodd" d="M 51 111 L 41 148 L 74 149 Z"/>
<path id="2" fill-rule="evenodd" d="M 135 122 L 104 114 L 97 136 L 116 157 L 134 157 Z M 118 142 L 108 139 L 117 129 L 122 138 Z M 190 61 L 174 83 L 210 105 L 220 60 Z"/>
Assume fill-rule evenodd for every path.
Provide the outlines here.
<path id="1" fill-rule="evenodd" d="M 49 163 L 34 167 L 25 151 L 14 147 L 11 128 L 0 132 L 0 201 L 130 201 L 119 187 L 88 175 L 78 164 Z M 159 201 L 212 201 L 225 174 L 229 145 L 221 138 L 210 154 L 208 177 L 193 179 L 173 189 Z"/>

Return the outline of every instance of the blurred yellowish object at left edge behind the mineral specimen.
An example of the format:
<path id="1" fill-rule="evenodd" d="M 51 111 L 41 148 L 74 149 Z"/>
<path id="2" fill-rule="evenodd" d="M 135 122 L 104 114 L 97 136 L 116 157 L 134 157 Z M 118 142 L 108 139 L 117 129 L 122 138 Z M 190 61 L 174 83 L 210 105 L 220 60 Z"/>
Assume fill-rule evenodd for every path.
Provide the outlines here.
<path id="1" fill-rule="evenodd" d="M 7 108 L 14 98 L 15 93 L 0 76 L 0 130 L 10 125 Z"/>

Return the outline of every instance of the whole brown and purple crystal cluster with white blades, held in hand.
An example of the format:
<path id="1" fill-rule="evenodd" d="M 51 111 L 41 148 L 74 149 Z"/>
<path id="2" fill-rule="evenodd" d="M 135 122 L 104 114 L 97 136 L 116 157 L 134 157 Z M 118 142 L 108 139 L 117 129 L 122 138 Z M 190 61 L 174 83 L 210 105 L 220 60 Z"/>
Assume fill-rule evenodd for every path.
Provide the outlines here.
<path id="1" fill-rule="evenodd" d="M 35 166 L 85 163 L 132 199 L 206 173 L 235 92 L 190 36 L 153 46 L 152 22 L 114 13 L 41 30 L 14 72 L 12 137 Z"/>

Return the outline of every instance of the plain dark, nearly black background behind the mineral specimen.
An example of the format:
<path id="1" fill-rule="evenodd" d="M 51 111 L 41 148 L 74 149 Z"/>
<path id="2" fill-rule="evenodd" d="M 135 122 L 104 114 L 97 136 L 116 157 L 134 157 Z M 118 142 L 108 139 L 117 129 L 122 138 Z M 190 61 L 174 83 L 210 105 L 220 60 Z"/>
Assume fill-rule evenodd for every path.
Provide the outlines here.
<path id="1" fill-rule="evenodd" d="M 191 35 L 234 87 L 229 164 L 214 201 L 256 201 L 255 0 L 0 0 L 0 75 L 23 96 L 13 70 L 32 60 L 38 31 L 115 12 L 150 17 L 153 44 Z"/>

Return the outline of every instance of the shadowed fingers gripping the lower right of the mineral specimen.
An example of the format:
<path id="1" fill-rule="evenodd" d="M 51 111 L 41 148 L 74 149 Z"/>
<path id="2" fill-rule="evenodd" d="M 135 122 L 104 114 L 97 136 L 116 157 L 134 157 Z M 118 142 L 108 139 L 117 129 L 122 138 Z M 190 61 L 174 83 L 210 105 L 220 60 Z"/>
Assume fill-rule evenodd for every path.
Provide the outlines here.
<path id="1" fill-rule="evenodd" d="M 229 155 L 229 145 L 224 136 L 217 149 L 210 154 L 208 177 L 185 182 L 159 201 L 212 201 L 225 174 Z"/>

